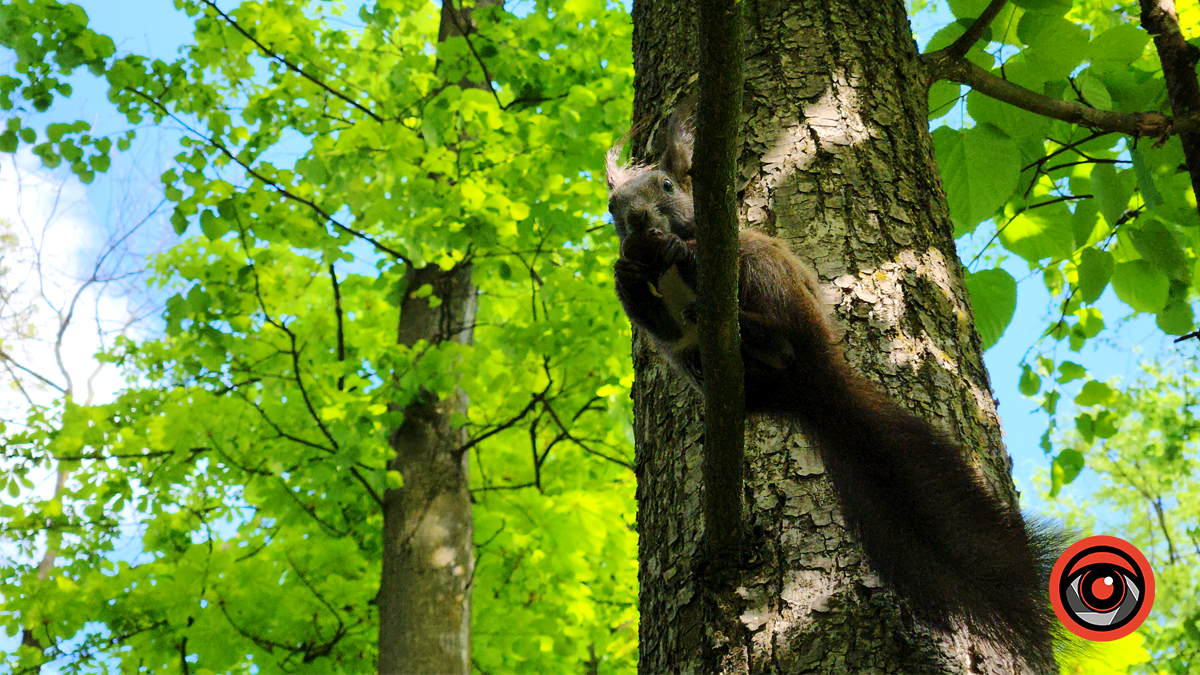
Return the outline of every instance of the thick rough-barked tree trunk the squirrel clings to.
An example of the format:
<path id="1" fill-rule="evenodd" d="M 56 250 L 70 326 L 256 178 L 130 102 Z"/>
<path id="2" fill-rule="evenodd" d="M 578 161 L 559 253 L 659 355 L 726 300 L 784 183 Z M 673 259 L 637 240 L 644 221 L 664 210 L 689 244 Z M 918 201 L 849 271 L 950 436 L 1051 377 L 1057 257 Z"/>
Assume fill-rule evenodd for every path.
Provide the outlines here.
<path id="1" fill-rule="evenodd" d="M 745 35 L 743 225 L 812 264 L 851 363 L 974 449 L 1015 507 L 904 2 L 745 0 Z M 692 2 L 635 4 L 634 55 L 632 147 L 655 157 L 652 132 L 695 88 Z M 649 340 L 634 352 L 641 673 L 1018 671 L 982 640 L 922 627 L 878 587 L 799 429 L 748 424 L 745 521 L 761 565 L 727 591 L 702 586 L 702 405 Z"/>

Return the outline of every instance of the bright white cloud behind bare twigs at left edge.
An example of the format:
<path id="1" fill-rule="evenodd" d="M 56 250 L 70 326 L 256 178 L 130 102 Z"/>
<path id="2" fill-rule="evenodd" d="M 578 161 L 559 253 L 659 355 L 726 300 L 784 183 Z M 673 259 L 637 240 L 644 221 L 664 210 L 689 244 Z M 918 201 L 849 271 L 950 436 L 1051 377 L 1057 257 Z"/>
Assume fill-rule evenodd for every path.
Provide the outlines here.
<path id="1" fill-rule="evenodd" d="M 132 240 L 114 246 L 132 223 L 95 211 L 89 190 L 70 173 L 43 168 L 28 151 L 0 156 L 0 220 L 18 239 L 0 276 L 10 294 L 0 305 L 0 340 L 13 359 L 0 369 L 5 419 L 23 417 L 30 399 L 50 402 L 60 389 L 70 388 L 77 402 L 98 404 L 122 384 L 112 366 L 97 372 L 95 354 L 130 321 L 131 280 L 106 280 L 143 262 L 128 249 Z M 20 334 L 22 324 L 31 336 Z"/>

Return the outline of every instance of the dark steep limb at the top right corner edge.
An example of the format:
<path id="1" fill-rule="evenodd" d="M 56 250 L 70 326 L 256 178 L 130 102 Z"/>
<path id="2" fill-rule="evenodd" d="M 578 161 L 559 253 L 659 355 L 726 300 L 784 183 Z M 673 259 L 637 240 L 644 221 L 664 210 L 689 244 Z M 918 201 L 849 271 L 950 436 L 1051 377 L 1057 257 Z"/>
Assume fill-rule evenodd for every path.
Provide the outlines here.
<path id="1" fill-rule="evenodd" d="M 1200 112 L 1200 83 L 1196 82 L 1200 49 L 1183 40 L 1175 14 L 1175 0 L 1140 0 L 1140 4 L 1141 28 L 1154 37 L 1171 112 L 1175 117 L 1196 114 Z M 1200 133 L 1181 132 L 1180 143 L 1192 177 L 1192 192 L 1200 195 Z"/>

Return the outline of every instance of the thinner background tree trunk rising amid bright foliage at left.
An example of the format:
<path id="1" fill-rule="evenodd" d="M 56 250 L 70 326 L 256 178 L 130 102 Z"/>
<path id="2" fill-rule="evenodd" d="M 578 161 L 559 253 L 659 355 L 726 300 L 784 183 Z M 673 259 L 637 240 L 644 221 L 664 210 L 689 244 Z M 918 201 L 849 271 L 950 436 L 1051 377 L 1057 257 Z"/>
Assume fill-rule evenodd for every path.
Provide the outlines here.
<path id="1" fill-rule="evenodd" d="M 474 7 L 499 4 L 478 0 L 470 6 L 445 0 L 438 42 L 470 34 Z M 484 86 L 463 80 L 461 86 Z M 449 271 L 438 265 L 409 269 L 400 307 L 397 341 L 431 345 L 445 340 L 469 344 L 476 297 L 470 264 Z M 433 293 L 414 293 L 428 283 Z M 438 306 L 430 300 L 438 298 Z M 462 394 L 438 400 L 427 395 L 404 408 L 404 423 L 391 444 L 390 471 L 404 480 L 384 492 L 383 572 L 379 580 L 379 675 L 467 675 L 470 673 L 470 584 L 475 552 L 472 539 L 470 490 L 466 428 L 454 429 L 450 416 L 467 413 Z"/>

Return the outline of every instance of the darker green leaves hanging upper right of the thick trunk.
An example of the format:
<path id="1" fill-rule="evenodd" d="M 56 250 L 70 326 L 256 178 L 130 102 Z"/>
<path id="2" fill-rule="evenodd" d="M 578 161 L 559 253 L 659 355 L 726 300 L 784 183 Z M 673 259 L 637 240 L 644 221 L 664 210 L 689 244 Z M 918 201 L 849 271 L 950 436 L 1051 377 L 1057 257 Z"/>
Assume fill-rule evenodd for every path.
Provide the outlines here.
<path id="1" fill-rule="evenodd" d="M 952 44 L 989 5 L 953 0 L 958 19 L 926 52 Z M 1184 37 L 1200 40 L 1200 10 L 1178 4 Z M 1170 113 L 1162 62 L 1138 4 L 1018 0 L 1007 4 L 967 59 L 1037 94 L 1118 113 Z M 1021 364 L 1020 389 L 1050 416 L 1051 495 L 1082 459 L 1051 444 L 1058 402 L 1090 405 L 1102 388 L 1074 356 L 1150 315 L 1159 330 L 1195 328 L 1200 220 L 1178 138 L 1133 139 L 1048 119 L 940 82 L 930 90 L 938 167 L 985 348 L 1016 311 L 1024 267 L 1050 294 L 1043 334 Z M 1106 291 L 1111 288 L 1111 293 Z M 1066 352 L 1066 353 L 1064 353 Z"/>

